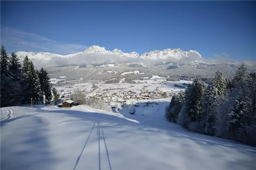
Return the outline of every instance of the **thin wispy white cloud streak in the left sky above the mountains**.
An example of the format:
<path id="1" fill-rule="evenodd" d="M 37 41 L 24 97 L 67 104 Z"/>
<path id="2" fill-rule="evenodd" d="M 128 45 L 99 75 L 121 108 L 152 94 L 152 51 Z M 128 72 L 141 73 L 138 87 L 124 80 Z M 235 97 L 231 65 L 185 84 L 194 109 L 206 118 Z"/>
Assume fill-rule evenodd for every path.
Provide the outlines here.
<path id="1" fill-rule="evenodd" d="M 61 43 L 38 34 L 2 27 L 2 44 L 19 51 L 50 52 L 61 55 L 84 51 L 86 45 Z"/>

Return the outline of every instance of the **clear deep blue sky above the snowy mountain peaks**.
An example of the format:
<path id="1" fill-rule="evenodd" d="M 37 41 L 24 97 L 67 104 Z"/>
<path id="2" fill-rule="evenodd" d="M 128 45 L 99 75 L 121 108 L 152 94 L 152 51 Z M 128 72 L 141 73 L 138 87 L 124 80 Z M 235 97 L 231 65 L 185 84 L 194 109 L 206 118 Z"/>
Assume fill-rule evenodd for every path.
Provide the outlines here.
<path id="1" fill-rule="evenodd" d="M 255 0 L 4 0 L 7 52 L 180 48 L 205 58 L 256 58 Z"/>

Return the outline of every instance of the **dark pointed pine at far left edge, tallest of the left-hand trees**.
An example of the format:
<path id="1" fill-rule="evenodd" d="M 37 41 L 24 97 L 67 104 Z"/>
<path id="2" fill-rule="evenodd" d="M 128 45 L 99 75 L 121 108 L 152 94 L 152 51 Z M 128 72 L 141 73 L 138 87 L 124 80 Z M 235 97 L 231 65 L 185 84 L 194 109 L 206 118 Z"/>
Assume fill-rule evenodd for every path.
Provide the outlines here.
<path id="1" fill-rule="evenodd" d="M 11 77 L 9 72 L 9 57 L 4 46 L 1 46 L 0 49 L 0 74 L 5 74 L 7 77 Z"/>

